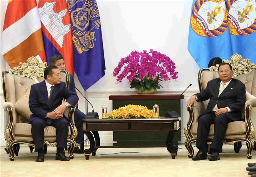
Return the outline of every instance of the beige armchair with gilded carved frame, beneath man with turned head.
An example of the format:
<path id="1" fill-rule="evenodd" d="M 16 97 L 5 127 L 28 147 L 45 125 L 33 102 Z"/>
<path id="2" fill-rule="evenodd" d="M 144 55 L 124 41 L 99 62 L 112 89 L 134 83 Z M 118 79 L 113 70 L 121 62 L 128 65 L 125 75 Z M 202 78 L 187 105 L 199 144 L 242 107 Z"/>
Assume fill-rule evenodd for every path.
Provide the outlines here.
<path id="1" fill-rule="evenodd" d="M 32 114 L 28 106 L 28 96 L 30 86 L 44 80 L 44 69 L 46 66 L 46 62 L 39 63 L 37 58 L 30 57 L 27 63 L 19 63 L 17 68 L 3 71 L 5 150 L 10 154 L 9 157 L 12 161 L 15 158 L 15 154 L 18 154 L 13 149 L 16 146 L 15 144 L 35 146 L 31 134 L 31 124 L 28 122 Z M 65 82 L 68 86 L 69 73 L 61 71 L 61 76 L 61 81 Z M 64 113 L 70 119 L 67 138 L 67 143 L 71 144 L 68 152 L 70 159 L 74 158 L 75 137 L 77 136 L 77 129 L 74 126 L 74 111 L 75 108 L 69 108 Z M 45 127 L 44 135 L 45 145 L 56 145 L 55 127 Z"/>

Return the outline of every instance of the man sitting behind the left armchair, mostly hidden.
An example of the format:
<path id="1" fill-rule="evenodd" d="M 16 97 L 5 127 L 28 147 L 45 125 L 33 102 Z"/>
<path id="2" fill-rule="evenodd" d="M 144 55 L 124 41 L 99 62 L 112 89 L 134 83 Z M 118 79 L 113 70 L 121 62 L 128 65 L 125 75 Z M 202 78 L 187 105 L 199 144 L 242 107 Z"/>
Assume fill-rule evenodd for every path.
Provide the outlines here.
<path id="1" fill-rule="evenodd" d="M 49 59 L 49 63 L 50 63 L 50 65 L 57 66 L 60 70 L 65 70 L 66 69 L 65 68 L 65 62 L 64 62 L 63 57 L 61 55 L 52 55 Z M 72 92 L 76 93 L 74 77 L 72 76 L 72 74 L 69 74 L 69 76 L 70 76 L 69 89 Z M 77 109 L 75 109 L 74 118 L 75 118 L 75 127 L 77 127 L 76 141 L 77 142 L 83 142 L 84 141 L 84 130 L 83 130 L 82 119 L 85 118 L 85 114 L 77 108 Z M 74 153 L 83 154 L 84 150 L 80 149 L 77 146 L 75 148 Z"/>

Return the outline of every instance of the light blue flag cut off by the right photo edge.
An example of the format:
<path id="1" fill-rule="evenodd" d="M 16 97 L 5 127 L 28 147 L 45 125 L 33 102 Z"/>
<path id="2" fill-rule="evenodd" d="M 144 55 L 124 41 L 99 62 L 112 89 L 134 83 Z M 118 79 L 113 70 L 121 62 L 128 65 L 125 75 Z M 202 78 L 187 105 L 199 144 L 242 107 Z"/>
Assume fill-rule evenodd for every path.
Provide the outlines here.
<path id="1" fill-rule="evenodd" d="M 226 8 L 232 53 L 256 63 L 255 0 L 227 0 Z"/>

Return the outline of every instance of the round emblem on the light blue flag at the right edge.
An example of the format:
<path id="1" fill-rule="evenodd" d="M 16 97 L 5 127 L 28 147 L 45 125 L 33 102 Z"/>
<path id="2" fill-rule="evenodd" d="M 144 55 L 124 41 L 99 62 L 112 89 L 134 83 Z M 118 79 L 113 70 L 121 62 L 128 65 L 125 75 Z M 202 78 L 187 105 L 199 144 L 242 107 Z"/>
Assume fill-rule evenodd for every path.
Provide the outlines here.
<path id="1" fill-rule="evenodd" d="M 226 7 L 231 35 L 245 36 L 256 30 L 255 0 L 231 0 Z"/>

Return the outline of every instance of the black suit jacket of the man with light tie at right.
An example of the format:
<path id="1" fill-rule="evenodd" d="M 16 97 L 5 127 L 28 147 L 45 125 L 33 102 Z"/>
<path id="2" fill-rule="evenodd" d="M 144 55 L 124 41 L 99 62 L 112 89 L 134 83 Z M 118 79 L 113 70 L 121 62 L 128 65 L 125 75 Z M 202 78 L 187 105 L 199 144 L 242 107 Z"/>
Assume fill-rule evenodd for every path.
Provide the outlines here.
<path id="1" fill-rule="evenodd" d="M 241 120 L 241 108 L 243 108 L 246 101 L 245 85 L 238 79 L 232 78 L 228 86 L 218 97 L 220 83 L 220 78 L 212 79 L 207 83 L 206 89 L 195 94 L 197 96 L 197 101 L 210 99 L 204 114 L 211 112 L 217 104 L 218 108 L 228 107 L 231 109 L 231 112 L 225 113 L 229 119 L 233 121 Z"/>

